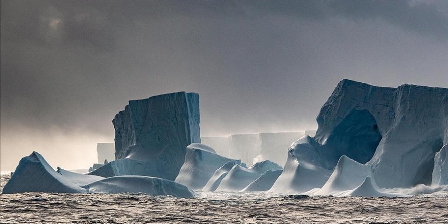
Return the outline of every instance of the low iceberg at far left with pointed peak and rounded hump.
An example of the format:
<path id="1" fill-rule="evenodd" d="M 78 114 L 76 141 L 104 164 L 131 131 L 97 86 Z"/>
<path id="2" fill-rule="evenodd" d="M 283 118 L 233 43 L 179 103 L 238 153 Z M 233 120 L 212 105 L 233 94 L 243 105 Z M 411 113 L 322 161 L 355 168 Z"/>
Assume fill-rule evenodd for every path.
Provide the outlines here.
<path id="1" fill-rule="evenodd" d="M 3 192 L 25 193 L 146 193 L 194 197 L 188 187 L 156 177 L 117 176 L 103 178 L 70 172 L 58 167 L 55 171 L 37 152 L 22 158 Z"/>

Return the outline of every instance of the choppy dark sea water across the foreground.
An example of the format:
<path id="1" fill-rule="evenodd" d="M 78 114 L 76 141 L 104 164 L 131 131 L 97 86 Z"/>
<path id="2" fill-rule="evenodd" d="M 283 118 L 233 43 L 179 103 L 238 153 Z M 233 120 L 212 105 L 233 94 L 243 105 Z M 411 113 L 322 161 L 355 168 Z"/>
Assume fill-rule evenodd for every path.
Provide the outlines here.
<path id="1" fill-rule="evenodd" d="M 8 176 L 2 175 L 2 186 Z M 1 223 L 448 223 L 448 195 L 404 198 L 198 193 L 0 195 Z"/>

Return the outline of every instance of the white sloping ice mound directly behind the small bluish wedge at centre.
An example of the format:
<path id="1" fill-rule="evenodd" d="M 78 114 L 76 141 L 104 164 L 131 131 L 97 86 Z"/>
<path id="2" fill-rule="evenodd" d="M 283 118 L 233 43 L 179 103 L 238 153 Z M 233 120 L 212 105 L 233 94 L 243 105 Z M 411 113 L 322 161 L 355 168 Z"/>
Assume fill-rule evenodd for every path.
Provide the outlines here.
<path id="1" fill-rule="evenodd" d="M 249 168 L 234 165 L 229 173 L 224 177 L 216 191 L 237 192 L 247 187 L 251 182 L 260 177 L 268 170 L 281 170 L 282 166 L 277 163 L 265 160 L 257 162 Z"/>

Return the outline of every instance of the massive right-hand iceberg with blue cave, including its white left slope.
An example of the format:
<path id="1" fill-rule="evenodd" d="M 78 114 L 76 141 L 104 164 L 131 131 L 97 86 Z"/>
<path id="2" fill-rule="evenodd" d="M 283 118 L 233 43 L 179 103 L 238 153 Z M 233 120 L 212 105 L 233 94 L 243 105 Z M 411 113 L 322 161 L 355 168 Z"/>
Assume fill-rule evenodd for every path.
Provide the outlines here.
<path id="1" fill-rule="evenodd" d="M 289 149 L 273 191 L 322 187 L 343 155 L 369 166 L 381 188 L 429 185 L 433 177 L 447 173 L 441 168 L 433 174 L 443 163 L 435 155 L 448 142 L 447 88 L 377 87 L 344 79 L 321 108 L 317 123 L 315 137 L 302 138 Z"/>

